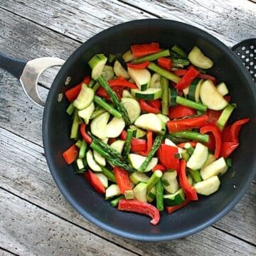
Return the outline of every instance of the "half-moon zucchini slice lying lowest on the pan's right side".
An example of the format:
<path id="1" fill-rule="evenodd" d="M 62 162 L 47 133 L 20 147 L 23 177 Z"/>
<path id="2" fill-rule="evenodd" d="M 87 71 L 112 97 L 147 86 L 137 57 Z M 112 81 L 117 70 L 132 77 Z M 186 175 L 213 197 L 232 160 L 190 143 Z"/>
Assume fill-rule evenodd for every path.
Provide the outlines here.
<path id="1" fill-rule="evenodd" d="M 220 187 L 220 179 L 218 176 L 212 176 L 206 181 L 200 181 L 193 184 L 193 187 L 196 189 L 196 193 L 203 196 L 210 196 L 212 193 L 218 191 L 218 188 Z"/>

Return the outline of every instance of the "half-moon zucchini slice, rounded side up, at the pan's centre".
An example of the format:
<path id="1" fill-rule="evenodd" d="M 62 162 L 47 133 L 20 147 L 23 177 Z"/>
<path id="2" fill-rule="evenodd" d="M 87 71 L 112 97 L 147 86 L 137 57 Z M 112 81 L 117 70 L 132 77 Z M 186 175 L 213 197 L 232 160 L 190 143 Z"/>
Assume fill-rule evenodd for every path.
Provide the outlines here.
<path id="1" fill-rule="evenodd" d="M 154 132 L 161 132 L 162 129 L 161 119 L 153 113 L 142 114 L 137 118 L 134 124 L 139 128 L 151 130 Z"/>

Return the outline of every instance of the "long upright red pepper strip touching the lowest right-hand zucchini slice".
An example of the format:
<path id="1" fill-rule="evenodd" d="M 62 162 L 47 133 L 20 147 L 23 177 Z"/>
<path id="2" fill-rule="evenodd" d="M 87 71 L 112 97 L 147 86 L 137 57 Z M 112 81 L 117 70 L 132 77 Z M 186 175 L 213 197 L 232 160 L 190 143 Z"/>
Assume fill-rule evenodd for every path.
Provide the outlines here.
<path id="1" fill-rule="evenodd" d="M 191 186 L 191 184 L 188 182 L 188 178 L 186 176 L 186 161 L 181 159 L 181 169 L 179 172 L 179 181 L 181 188 L 186 193 L 186 196 L 188 200 L 191 201 L 197 201 L 198 195 L 196 193 L 196 189 Z"/>

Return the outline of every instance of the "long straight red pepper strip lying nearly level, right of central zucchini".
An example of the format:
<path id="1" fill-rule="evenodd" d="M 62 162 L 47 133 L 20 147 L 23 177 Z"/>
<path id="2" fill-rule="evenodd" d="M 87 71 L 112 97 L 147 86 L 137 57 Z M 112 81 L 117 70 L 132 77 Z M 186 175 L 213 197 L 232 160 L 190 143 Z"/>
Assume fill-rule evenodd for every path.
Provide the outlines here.
<path id="1" fill-rule="evenodd" d="M 186 129 L 201 128 L 207 125 L 208 116 L 206 114 L 199 117 L 189 117 L 186 119 L 177 119 L 167 122 L 169 132 L 181 132 Z"/>

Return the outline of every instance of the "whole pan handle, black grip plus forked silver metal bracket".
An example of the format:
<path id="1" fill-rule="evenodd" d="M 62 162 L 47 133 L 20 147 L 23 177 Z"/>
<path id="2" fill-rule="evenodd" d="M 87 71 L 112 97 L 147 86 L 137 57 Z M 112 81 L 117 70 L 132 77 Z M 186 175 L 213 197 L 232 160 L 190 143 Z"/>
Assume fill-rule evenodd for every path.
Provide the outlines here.
<path id="1" fill-rule="evenodd" d="M 0 52 L 0 68 L 8 71 L 20 80 L 26 95 L 36 105 L 44 107 L 45 102 L 38 94 L 38 79 L 47 68 L 63 65 L 65 60 L 54 57 L 36 58 L 34 60 L 18 60 Z"/>

